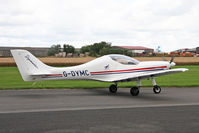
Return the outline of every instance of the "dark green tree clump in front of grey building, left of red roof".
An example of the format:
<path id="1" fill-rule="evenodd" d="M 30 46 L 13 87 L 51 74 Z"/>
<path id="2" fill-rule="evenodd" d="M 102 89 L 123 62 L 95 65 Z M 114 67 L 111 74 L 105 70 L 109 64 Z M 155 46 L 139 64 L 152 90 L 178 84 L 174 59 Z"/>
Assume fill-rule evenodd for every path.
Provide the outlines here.
<path id="1" fill-rule="evenodd" d="M 132 53 L 129 52 L 128 50 L 117 48 L 117 47 L 112 47 L 111 43 L 105 42 L 105 41 L 83 46 L 80 48 L 79 51 L 76 51 L 75 47 L 72 45 L 69 45 L 69 44 L 64 44 L 63 49 L 60 44 L 52 45 L 48 51 L 48 55 L 54 56 L 55 54 L 57 54 L 59 52 L 66 52 L 66 54 L 68 54 L 68 53 L 72 53 L 72 54 L 88 53 L 89 56 L 93 56 L 93 57 L 103 56 L 103 55 L 107 55 L 107 54 L 123 54 L 123 55 L 132 56 Z"/>

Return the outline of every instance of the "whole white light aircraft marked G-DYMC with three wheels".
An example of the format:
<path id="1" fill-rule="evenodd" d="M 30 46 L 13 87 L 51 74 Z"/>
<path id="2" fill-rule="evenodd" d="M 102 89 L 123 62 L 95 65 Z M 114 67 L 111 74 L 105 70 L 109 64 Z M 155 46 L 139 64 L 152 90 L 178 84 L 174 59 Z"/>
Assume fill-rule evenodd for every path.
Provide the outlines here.
<path id="1" fill-rule="evenodd" d="M 143 79 L 151 78 L 153 91 L 159 94 L 161 87 L 156 84 L 155 77 L 188 70 L 186 68 L 170 69 L 175 65 L 174 58 L 171 58 L 170 61 L 139 62 L 131 57 L 118 54 L 105 55 L 78 66 L 56 68 L 42 63 L 26 50 L 11 50 L 11 53 L 24 81 L 96 80 L 113 82 L 114 84 L 109 87 L 111 93 L 117 92 L 119 82 L 137 81 L 137 86 L 130 89 L 133 96 L 139 94 Z"/>

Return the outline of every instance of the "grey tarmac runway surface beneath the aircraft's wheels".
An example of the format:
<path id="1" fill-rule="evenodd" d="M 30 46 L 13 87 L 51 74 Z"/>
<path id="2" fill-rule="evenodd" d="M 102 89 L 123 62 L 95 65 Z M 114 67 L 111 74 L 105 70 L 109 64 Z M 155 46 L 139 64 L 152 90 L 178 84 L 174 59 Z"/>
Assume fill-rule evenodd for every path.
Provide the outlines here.
<path id="1" fill-rule="evenodd" d="M 0 91 L 0 133 L 199 132 L 199 88 Z"/>

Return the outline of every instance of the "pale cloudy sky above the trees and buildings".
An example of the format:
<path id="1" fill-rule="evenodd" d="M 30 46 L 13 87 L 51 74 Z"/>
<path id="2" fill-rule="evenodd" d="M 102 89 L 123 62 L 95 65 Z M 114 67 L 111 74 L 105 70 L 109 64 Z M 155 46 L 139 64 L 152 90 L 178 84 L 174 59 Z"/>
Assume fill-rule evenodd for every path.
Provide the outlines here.
<path id="1" fill-rule="evenodd" d="M 0 46 L 199 46 L 198 0 L 0 0 Z"/>

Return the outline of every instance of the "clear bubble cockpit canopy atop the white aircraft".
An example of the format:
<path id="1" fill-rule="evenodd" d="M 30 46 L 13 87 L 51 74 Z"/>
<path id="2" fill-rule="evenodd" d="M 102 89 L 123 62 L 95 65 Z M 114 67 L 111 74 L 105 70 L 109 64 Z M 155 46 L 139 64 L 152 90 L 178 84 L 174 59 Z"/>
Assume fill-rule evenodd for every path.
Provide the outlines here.
<path id="1" fill-rule="evenodd" d="M 109 57 L 116 61 L 119 62 L 121 64 L 124 65 L 137 65 L 139 64 L 139 61 L 136 59 L 133 59 L 131 57 L 125 56 L 125 55 L 109 55 Z"/>

